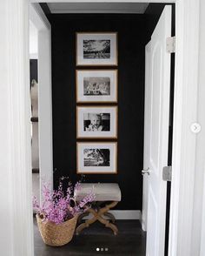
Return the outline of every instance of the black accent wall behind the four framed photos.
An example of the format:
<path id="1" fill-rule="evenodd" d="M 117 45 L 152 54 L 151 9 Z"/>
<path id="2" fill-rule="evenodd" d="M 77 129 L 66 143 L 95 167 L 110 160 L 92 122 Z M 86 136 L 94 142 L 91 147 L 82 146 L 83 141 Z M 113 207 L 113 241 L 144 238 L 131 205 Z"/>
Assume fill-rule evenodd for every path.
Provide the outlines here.
<path id="1" fill-rule="evenodd" d="M 55 186 L 62 176 L 69 176 L 72 181 L 81 179 L 76 175 L 76 69 L 80 69 L 76 67 L 76 32 L 118 32 L 118 173 L 87 174 L 84 181 L 117 182 L 122 202 L 116 209 L 122 210 L 142 209 L 145 19 L 145 15 L 136 14 L 50 17 Z"/>

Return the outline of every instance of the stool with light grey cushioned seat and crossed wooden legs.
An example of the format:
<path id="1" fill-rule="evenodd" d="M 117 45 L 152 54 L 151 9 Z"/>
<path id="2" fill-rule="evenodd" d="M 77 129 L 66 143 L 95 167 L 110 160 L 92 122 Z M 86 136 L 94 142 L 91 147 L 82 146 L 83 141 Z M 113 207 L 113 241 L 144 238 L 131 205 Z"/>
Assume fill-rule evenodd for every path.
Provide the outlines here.
<path id="1" fill-rule="evenodd" d="M 78 218 L 78 222 L 80 222 L 83 217 L 88 216 L 89 213 L 93 215 L 93 218 L 87 219 L 84 223 L 77 226 L 76 234 L 79 234 L 85 227 L 89 227 L 90 224 L 98 220 L 105 226 L 111 228 L 116 235 L 118 232 L 116 225 L 114 225 L 116 219 L 114 215 L 108 211 L 110 208 L 115 207 L 119 201 L 121 201 L 121 191 L 119 185 L 116 183 L 82 183 L 81 189 L 75 193 L 76 201 L 83 199 L 90 191 L 95 193 L 96 204 L 81 214 Z M 107 201 L 110 203 L 104 207 L 101 207 L 102 203 Z M 106 219 L 106 217 L 109 219 Z"/>

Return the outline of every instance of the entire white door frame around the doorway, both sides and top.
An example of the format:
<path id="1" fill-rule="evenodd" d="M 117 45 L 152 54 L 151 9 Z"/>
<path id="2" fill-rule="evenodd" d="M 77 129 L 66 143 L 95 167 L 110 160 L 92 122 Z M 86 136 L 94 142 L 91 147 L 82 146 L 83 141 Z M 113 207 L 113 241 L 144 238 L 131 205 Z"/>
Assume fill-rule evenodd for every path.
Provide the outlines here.
<path id="1" fill-rule="evenodd" d="M 39 1 L 31 1 L 36 3 Z M 56 0 L 41 2 L 57 2 Z M 109 0 L 72 0 L 59 2 L 103 2 Z M 126 3 L 125 0 L 112 0 Z M 144 0 L 131 0 L 140 3 Z M 190 125 L 197 122 L 198 42 L 200 0 L 149 0 L 149 3 L 175 3 L 175 100 L 173 127 L 173 177 L 169 224 L 169 256 L 190 255 L 193 225 L 196 134 Z M 30 161 L 30 91 L 29 91 L 29 2 L 3 0 L 1 28 L 5 33 L 2 47 L 6 70 L 1 93 L 4 126 L 0 152 L 9 156 L 2 162 L 5 179 L 10 181 L 7 220 L 10 229 L 3 233 L 6 255 L 33 255 Z M 13 43 L 15 42 L 15 44 Z M 15 84 L 15 86 L 13 85 Z M 3 127 L 4 127 L 3 126 Z M 2 136 L 2 135 L 1 135 Z M 5 139 L 7 138 L 7 139 Z M 8 164 L 9 163 L 9 164 Z M 186 214 L 185 214 L 186 213 Z M 23 216 L 22 216 L 23 214 Z M 6 247 L 7 246 L 7 247 Z M 10 250 L 8 250 L 8 248 Z M 7 251 L 8 250 L 8 251 Z M 10 254 L 9 254 L 10 253 Z"/>

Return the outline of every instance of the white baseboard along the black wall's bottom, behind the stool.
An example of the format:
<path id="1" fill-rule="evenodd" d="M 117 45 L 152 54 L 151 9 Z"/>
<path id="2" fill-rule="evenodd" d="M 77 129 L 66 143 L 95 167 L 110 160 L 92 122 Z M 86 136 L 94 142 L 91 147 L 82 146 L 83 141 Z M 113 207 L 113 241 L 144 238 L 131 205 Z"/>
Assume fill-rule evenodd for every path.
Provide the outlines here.
<path id="1" fill-rule="evenodd" d="M 142 213 L 140 210 L 110 210 L 116 219 L 142 219 Z M 92 214 L 89 216 L 84 217 L 83 219 L 91 219 Z"/>

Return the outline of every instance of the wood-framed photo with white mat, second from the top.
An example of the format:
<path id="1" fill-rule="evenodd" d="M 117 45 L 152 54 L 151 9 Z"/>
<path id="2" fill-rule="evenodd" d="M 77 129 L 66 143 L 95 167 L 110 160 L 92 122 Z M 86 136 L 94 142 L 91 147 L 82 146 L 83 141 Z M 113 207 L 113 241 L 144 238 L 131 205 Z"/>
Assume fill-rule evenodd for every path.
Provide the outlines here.
<path id="1" fill-rule="evenodd" d="M 76 102 L 117 102 L 117 71 L 77 70 Z"/>

